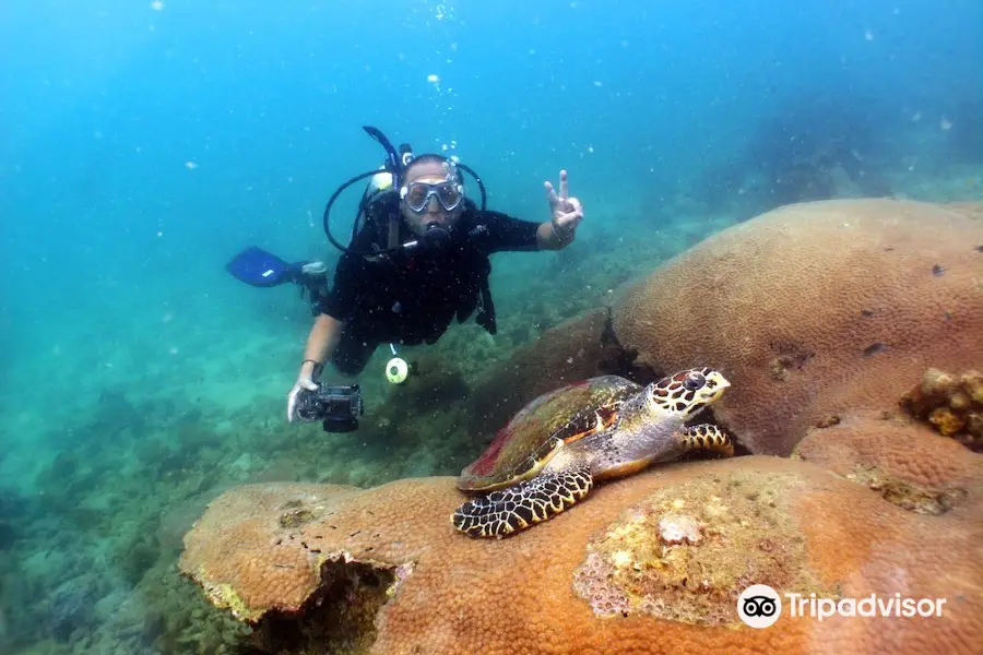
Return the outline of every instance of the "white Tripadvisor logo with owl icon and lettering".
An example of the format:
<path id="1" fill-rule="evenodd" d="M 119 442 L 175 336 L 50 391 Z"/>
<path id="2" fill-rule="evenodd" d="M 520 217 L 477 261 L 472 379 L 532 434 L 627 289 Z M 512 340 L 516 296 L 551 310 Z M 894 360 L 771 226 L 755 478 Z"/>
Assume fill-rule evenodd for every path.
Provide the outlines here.
<path id="1" fill-rule="evenodd" d="M 863 598 L 822 598 L 816 594 L 786 593 L 784 606 L 793 618 L 824 620 L 840 617 L 940 617 L 946 598 L 908 598 L 901 594 Z M 751 628 L 769 628 L 782 616 L 782 598 L 767 584 L 753 584 L 737 597 L 737 616 Z"/>

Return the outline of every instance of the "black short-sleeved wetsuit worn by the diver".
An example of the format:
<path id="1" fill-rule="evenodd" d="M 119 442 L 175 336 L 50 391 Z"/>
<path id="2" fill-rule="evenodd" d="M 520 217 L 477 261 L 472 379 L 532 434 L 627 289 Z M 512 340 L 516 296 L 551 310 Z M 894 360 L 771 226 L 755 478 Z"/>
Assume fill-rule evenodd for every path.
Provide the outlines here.
<path id="1" fill-rule="evenodd" d="M 384 238 L 391 212 L 399 213 L 394 194 L 374 205 L 369 219 L 352 242 L 355 250 L 372 249 Z M 410 238 L 400 221 L 401 242 Z M 345 322 L 332 357 L 335 368 L 357 373 L 376 347 L 383 343 L 433 344 L 457 315 L 464 322 L 478 309 L 476 320 L 495 333 L 495 314 L 488 294 L 488 255 L 506 250 L 536 250 L 538 223 L 520 221 L 498 212 L 482 212 L 467 203 L 449 247 L 439 253 L 401 255 L 395 261 L 369 261 L 345 253 L 334 270 L 334 285 L 322 295 L 315 311 Z"/>

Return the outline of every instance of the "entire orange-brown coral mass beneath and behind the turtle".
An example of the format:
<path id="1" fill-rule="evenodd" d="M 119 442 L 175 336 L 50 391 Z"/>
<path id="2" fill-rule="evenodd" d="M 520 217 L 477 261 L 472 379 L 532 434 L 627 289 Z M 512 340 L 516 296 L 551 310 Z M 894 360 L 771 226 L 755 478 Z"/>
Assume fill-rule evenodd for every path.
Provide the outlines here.
<path id="1" fill-rule="evenodd" d="M 791 460 L 663 466 L 495 541 L 452 529 L 452 478 L 241 486 L 186 536 L 181 571 L 264 652 L 969 652 L 983 639 L 971 609 L 983 572 L 968 557 L 983 538 L 983 461 L 902 406 L 931 417 L 944 404 L 972 425 L 972 376 L 929 371 L 905 393 L 929 367 L 983 361 L 981 242 L 978 222 L 941 205 L 783 207 L 547 327 L 484 378 L 449 368 L 412 403 L 470 386 L 477 441 L 565 382 L 711 364 L 734 383 L 715 418 Z M 932 630 L 756 631 L 736 616 L 751 583 L 950 604 Z"/>

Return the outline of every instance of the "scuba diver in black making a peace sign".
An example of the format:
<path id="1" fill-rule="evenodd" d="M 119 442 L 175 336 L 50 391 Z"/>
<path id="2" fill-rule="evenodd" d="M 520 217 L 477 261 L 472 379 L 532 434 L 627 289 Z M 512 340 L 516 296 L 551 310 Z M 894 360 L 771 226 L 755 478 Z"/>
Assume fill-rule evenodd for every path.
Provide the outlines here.
<path id="1" fill-rule="evenodd" d="M 269 286 L 262 284 L 269 275 L 306 286 L 311 294 L 317 318 L 287 396 L 288 421 L 298 419 L 298 396 L 319 389 L 316 380 L 329 360 L 337 371 L 357 374 L 379 345 L 390 344 L 395 354 L 396 344 L 433 344 L 454 318 L 463 323 L 472 314 L 495 334 L 488 255 L 561 250 L 583 219 L 580 201 L 569 195 L 566 170 L 558 190 L 545 182 L 550 218 L 521 221 L 486 210 L 481 178 L 455 158 L 414 156 L 406 144 L 396 152 L 379 130 L 364 129 L 384 147 L 387 158 L 381 170 L 342 184 L 324 210 L 328 239 L 343 251 L 332 287 L 318 286 L 316 281 L 325 277 L 318 262 L 288 264 L 262 251 L 244 257 L 247 249 L 229 263 L 229 271 L 252 279 L 250 284 Z M 481 206 L 465 195 L 462 170 L 477 182 Z M 367 177 L 372 181 L 359 203 L 352 240 L 343 246 L 331 234 L 331 206 L 344 189 Z"/>

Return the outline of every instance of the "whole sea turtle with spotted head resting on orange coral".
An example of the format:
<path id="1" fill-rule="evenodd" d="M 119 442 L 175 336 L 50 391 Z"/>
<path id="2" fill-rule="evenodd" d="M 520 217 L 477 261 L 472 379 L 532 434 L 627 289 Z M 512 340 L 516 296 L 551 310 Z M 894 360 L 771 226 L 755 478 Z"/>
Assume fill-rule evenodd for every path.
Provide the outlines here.
<path id="1" fill-rule="evenodd" d="M 453 513 L 454 527 L 501 537 L 552 519 L 596 481 L 694 449 L 733 455 L 716 426 L 684 425 L 730 385 L 719 371 L 699 368 L 647 386 L 602 376 L 538 396 L 461 472 L 458 488 L 479 496 Z"/>

